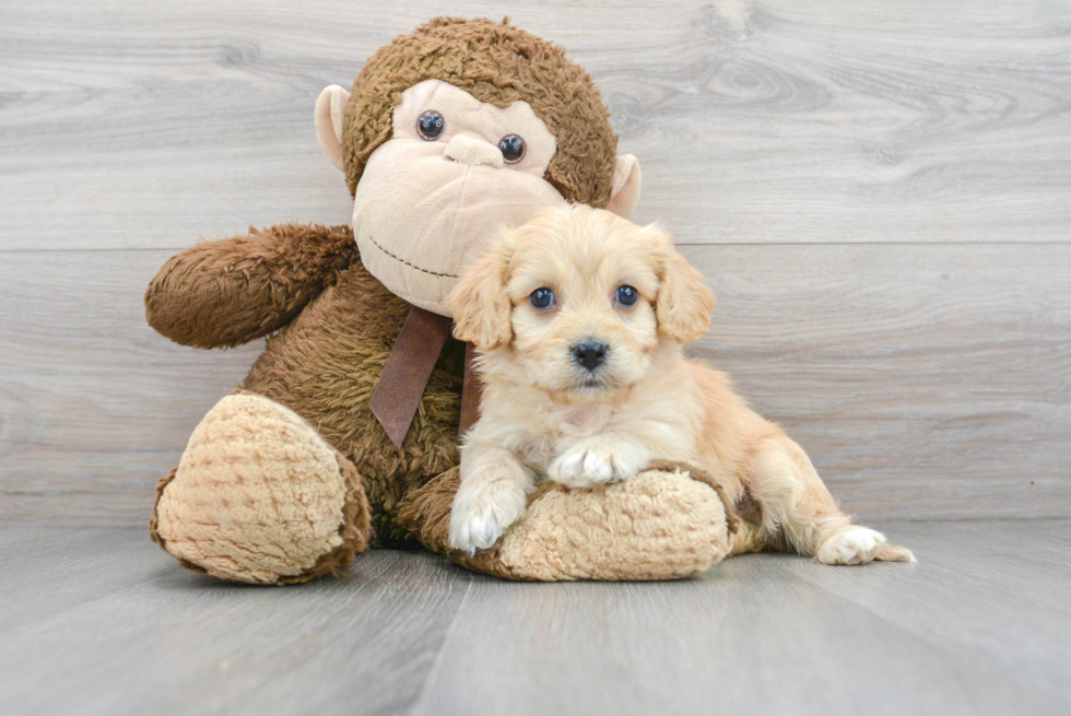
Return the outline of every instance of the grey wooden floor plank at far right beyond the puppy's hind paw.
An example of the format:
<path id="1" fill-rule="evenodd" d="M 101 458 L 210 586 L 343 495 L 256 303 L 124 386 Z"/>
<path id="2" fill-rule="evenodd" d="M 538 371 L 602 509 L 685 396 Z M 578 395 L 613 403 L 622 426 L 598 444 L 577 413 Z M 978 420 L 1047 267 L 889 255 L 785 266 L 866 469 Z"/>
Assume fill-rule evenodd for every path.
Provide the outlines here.
<path id="1" fill-rule="evenodd" d="M 791 567 L 939 648 L 987 654 L 998 671 L 1071 700 L 1071 524 L 922 523 L 904 531 L 920 545 L 923 579 Z M 1038 610 L 1049 624 L 1044 637 L 1032 627 Z"/>

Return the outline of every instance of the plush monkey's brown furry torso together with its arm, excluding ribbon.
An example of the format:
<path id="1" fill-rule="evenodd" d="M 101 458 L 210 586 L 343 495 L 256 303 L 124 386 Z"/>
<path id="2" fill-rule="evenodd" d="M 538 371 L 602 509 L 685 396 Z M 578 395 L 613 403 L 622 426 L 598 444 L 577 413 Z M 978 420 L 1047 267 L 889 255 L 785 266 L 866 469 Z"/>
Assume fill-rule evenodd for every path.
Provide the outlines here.
<path id="1" fill-rule="evenodd" d="M 392 519 L 402 497 L 458 462 L 458 341 L 439 357 L 402 450 L 368 409 L 409 308 L 362 266 L 349 226 L 284 224 L 200 244 L 169 259 L 145 294 L 150 325 L 185 345 L 278 330 L 242 387 L 294 410 L 353 462 L 377 543 L 407 539 Z"/>

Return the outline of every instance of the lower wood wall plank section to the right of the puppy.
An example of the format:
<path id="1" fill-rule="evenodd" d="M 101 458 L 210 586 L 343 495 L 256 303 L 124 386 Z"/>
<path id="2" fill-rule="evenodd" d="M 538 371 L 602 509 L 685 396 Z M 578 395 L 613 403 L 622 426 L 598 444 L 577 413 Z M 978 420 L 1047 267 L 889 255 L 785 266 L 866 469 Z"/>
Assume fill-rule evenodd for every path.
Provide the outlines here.
<path id="1" fill-rule="evenodd" d="M 1071 515 L 1071 247 L 686 254 L 721 300 L 693 353 L 804 446 L 847 512 Z"/>

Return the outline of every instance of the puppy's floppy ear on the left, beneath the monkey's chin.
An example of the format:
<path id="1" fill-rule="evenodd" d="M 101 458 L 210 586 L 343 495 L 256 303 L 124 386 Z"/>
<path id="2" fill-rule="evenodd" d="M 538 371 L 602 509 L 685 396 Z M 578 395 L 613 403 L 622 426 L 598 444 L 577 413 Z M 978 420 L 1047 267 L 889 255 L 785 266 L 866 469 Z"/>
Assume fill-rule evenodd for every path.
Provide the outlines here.
<path id="1" fill-rule="evenodd" d="M 513 339 L 506 295 L 506 278 L 513 242 L 504 235 L 482 259 L 461 274 L 446 305 L 454 315 L 454 337 L 470 341 L 481 351 L 505 345 Z"/>

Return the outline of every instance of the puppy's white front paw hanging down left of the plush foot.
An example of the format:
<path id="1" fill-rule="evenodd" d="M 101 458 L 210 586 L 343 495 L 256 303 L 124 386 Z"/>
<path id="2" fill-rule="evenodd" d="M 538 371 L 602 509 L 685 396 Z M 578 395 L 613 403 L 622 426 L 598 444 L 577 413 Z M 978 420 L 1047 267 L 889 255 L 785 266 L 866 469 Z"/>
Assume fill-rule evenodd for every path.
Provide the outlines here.
<path id="1" fill-rule="evenodd" d="M 525 489 L 508 480 L 461 482 L 447 541 L 469 554 L 489 550 L 525 514 L 526 502 Z"/>

